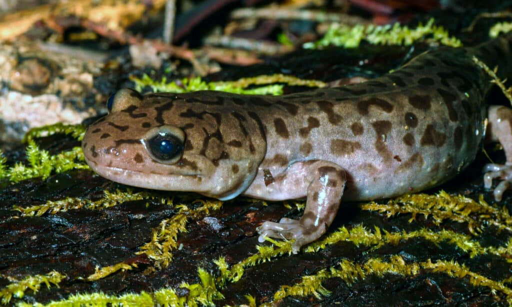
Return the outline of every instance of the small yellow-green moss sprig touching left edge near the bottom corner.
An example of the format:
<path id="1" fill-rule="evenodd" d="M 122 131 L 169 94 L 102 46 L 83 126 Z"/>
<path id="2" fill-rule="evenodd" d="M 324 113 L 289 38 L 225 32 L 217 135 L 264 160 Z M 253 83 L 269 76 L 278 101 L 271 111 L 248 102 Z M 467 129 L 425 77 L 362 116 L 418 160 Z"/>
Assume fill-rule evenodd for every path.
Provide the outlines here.
<path id="1" fill-rule="evenodd" d="M 67 276 L 56 271 L 52 271 L 45 275 L 33 275 L 27 276 L 23 280 L 14 281 L 7 285 L 4 289 L 0 290 L 0 298 L 2 298 L 2 304 L 7 304 L 11 301 L 11 298 L 23 298 L 25 291 L 31 289 L 34 293 L 37 293 L 41 288 L 41 284 L 46 284 L 47 288 L 50 288 L 50 283 L 59 287 L 60 281 L 65 279 Z M 11 278 L 12 279 L 12 278 Z"/>

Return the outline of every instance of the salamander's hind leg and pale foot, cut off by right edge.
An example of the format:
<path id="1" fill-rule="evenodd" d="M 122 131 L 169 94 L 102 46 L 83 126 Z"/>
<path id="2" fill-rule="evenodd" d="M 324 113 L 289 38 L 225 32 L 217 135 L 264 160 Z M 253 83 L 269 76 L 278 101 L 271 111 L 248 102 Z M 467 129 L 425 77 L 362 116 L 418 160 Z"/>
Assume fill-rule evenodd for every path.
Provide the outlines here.
<path id="1" fill-rule="evenodd" d="M 483 171 L 484 185 L 490 188 L 493 180 L 501 182 L 494 189 L 494 198 L 501 201 L 503 193 L 512 184 L 512 109 L 505 106 L 490 106 L 488 112 L 487 140 L 500 142 L 505 151 L 505 164 L 487 164 Z"/>

